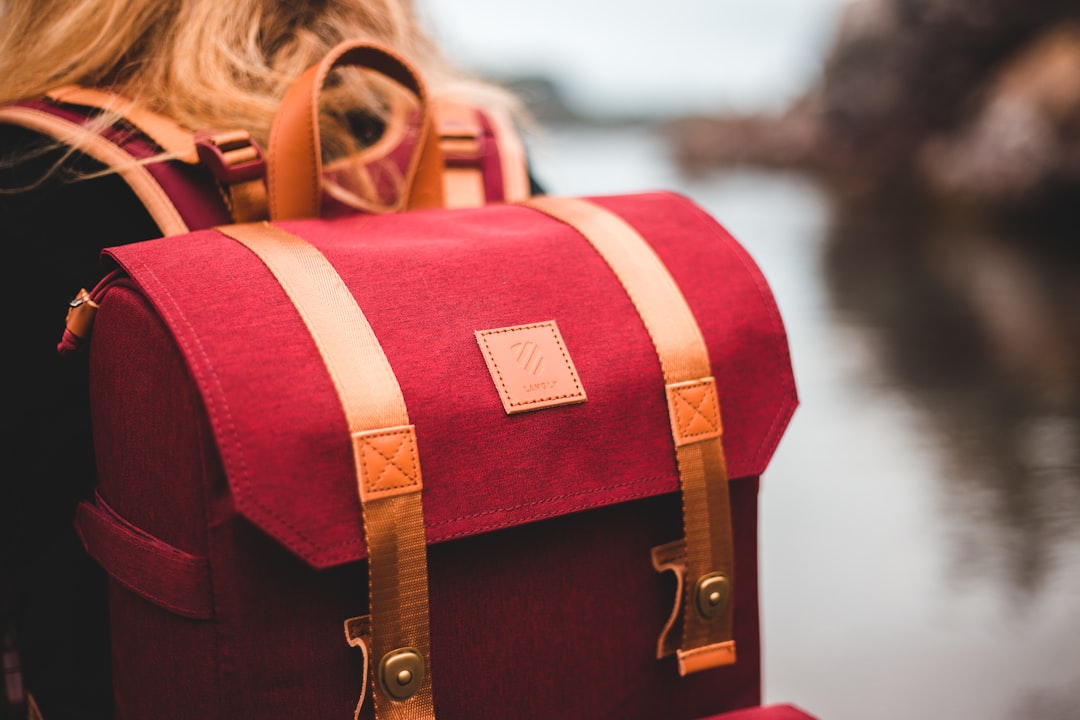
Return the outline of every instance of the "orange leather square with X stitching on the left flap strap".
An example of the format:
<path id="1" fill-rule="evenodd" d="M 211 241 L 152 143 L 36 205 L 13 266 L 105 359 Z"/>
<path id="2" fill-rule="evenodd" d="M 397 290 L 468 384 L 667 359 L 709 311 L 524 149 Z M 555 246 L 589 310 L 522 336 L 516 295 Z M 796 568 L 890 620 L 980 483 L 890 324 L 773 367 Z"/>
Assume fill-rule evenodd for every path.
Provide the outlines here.
<path id="1" fill-rule="evenodd" d="M 418 492 L 423 487 L 413 425 L 353 433 L 352 449 L 363 502 Z"/>

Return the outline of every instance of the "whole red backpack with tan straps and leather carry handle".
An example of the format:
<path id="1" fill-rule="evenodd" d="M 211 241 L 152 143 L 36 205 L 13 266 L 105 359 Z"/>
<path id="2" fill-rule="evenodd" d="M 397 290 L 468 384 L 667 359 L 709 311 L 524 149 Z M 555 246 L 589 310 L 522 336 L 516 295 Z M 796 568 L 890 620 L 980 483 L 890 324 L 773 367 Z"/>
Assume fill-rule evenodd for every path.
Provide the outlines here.
<path id="1" fill-rule="evenodd" d="M 380 212 L 326 191 L 340 65 L 420 97 Z M 107 248 L 62 343 L 118 717 L 807 718 L 760 707 L 758 479 L 797 404 L 765 279 L 686 198 L 529 196 L 496 124 L 432 114 L 346 43 L 265 155 L 195 137 L 213 212 L 129 179 L 191 231 Z"/>

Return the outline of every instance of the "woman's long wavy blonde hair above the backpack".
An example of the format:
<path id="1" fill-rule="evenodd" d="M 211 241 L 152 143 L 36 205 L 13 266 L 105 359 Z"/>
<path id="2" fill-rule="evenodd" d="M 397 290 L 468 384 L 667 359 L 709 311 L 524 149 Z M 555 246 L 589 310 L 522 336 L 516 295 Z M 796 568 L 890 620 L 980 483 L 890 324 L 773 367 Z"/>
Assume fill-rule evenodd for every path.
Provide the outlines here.
<path id="1" fill-rule="evenodd" d="M 518 111 L 509 93 L 449 66 L 410 0 L 0 0 L 0 104 L 104 87 L 191 130 L 247 130 L 266 147 L 289 83 L 342 40 L 391 47 L 432 97 Z M 323 97 L 336 119 L 324 145 L 355 148 L 346 110 L 386 113 L 379 86 L 338 73 Z"/>

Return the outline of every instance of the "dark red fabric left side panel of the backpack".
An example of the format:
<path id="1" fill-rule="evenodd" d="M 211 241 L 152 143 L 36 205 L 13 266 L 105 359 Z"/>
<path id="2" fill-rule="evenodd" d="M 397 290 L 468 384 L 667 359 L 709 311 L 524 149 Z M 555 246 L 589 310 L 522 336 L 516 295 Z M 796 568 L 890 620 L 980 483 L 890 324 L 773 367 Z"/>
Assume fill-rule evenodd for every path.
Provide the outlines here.
<path id="1" fill-rule="evenodd" d="M 175 341 L 145 300 L 122 286 L 108 297 L 118 312 L 97 317 L 90 343 L 98 491 L 118 516 L 156 542 L 212 565 L 207 525 L 214 519 L 204 464 L 216 452 L 202 402 Z M 224 477 L 217 479 L 226 490 Z M 164 576 L 139 580 L 141 596 L 110 583 L 117 720 L 160 717 L 163 705 L 183 706 L 189 718 L 216 717 L 220 665 L 228 662 L 218 651 L 219 626 L 145 599 L 148 580 L 174 579 L 160 565 L 144 569 Z M 204 586 L 195 587 L 192 596 L 173 585 L 177 603 L 205 604 Z"/>

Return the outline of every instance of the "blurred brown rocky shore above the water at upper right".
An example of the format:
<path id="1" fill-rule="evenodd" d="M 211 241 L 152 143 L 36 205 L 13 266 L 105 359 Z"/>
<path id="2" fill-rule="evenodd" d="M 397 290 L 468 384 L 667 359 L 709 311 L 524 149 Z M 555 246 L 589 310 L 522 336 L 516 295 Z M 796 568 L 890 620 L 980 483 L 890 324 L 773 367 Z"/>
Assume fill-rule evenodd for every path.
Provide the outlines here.
<path id="1" fill-rule="evenodd" d="M 1080 198 L 1080 2 L 856 0 L 778 117 L 670 124 L 685 167 L 787 166 L 848 195 L 1024 208 Z"/>

